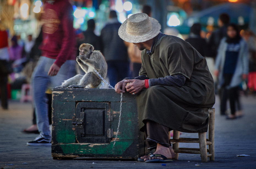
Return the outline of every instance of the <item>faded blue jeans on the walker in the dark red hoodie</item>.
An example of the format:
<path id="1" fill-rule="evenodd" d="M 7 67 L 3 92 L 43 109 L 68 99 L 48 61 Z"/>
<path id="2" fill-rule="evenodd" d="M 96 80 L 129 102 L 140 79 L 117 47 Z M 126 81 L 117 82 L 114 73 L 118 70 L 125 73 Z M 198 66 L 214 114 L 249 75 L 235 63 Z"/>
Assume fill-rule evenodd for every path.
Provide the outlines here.
<path id="1" fill-rule="evenodd" d="M 75 60 L 67 60 L 59 69 L 56 76 L 48 76 L 48 71 L 56 59 L 41 56 L 32 74 L 34 107 L 36 108 L 37 128 L 45 139 L 51 139 L 48 117 L 48 98 L 45 91 L 60 86 L 64 80 L 75 75 Z"/>

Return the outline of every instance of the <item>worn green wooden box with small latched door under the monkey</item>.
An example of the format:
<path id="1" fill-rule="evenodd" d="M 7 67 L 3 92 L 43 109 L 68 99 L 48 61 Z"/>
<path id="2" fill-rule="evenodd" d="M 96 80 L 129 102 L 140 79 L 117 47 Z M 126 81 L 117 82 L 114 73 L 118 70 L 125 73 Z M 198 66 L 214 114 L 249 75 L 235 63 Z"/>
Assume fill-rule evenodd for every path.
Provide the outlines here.
<path id="1" fill-rule="evenodd" d="M 58 88 L 52 92 L 52 146 L 56 157 L 137 159 L 145 154 L 136 97 L 113 89 Z"/>

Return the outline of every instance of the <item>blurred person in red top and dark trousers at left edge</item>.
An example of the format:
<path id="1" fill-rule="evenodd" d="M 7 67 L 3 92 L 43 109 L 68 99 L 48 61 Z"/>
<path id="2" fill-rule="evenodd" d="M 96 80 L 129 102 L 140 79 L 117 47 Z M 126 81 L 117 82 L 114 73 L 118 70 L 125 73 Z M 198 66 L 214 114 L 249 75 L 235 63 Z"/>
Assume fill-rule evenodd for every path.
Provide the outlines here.
<path id="1" fill-rule="evenodd" d="M 0 23 L 1 24 L 1 23 Z M 3 109 L 8 109 L 7 98 L 7 81 L 10 73 L 9 53 L 8 53 L 8 33 L 0 28 L 0 92 L 1 106 Z M 9 66 L 9 67 L 8 67 Z"/>

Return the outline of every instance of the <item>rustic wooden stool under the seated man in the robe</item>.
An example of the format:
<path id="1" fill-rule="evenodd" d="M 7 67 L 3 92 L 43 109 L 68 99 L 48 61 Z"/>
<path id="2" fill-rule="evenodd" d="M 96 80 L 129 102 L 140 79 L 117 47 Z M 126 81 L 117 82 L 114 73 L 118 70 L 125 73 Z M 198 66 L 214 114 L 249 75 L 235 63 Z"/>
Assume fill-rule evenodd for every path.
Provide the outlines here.
<path id="1" fill-rule="evenodd" d="M 178 160 L 179 153 L 188 154 L 200 154 L 202 162 L 207 162 L 208 157 L 211 161 L 214 161 L 214 117 L 215 108 L 209 109 L 209 139 L 206 139 L 205 133 L 198 133 L 197 138 L 182 138 L 179 137 L 179 131 L 173 130 L 173 150 L 175 152 L 175 159 Z M 200 148 L 179 148 L 179 143 L 199 143 Z M 209 145 L 209 149 L 207 149 Z M 209 154 L 207 154 L 209 152 Z"/>

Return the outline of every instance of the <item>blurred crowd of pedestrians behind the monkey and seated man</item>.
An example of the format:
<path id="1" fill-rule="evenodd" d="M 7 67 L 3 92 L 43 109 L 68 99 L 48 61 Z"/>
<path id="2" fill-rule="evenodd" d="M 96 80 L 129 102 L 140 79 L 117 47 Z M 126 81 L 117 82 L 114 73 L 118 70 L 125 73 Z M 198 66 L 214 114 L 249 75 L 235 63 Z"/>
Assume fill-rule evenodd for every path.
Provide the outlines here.
<path id="1" fill-rule="evenodd" d="M 58 6 L 55 8 L 61 10 Z M 68 11 L 72 12 L 71 9 Z M 151 16 L 150 6 L 143 6 L 141 11 Z M 56 19 L 51 18 L 53 16 L 45 15 L 43 19 Z M 72 18 L 57 17 L 62 18 L 59 20 L 59 27 L 62 25 L 62 28 L 55 29 L 55 25 L 48 24 L 42 27 L 36 39 L 29 35 L 26 41 L 22 41 L 19 36 L 13 36 L 10 45 L 7 31 L 0 27 L 1 106 L 8 109 L 10 89 L 7 83 L 12 83 L 11 89 L 21 89 L 23 84 L 31 84 L 30 91 L 34 98 L 33 125 L 24 129 L 24 132 L 40 131 L 48 140 L 51 139 L 48 128 L 51 124 L 51 89 L 75 74 L 84 74 L 75 62 L 80 44 L 89 43 L 103 53 L 108 65 L 106 80 L 112 86 L 125 77 L 137 77 L 141 68 L 141 51 L 134 44 L 124 42 L 118 35 L 121 23 L 115 11 L 110 11 L 109 20 L 100 36 L 94 33 L 96 26 L 93 19 L 87 21 L 88 29 L 81 31 L 72 28 Z M 235 119 L 243 116 L 240 93 L 255 94 L 256 91 L 256 36 L 251 30 L 241 31 L 237 25 L 230 23 L 230 17 L 225 13 L 220 15 L 218 26 L 206 38 L 201 24 L 195 23 L 184 40 L 208 63 L 215 80 L 216 94 L 221 101 L 220 114 L 228 115 L 227 119 Z M 167 28 L 163 33 L 185 37 L 175 28 Z M 230 106 L 227 106 L 227 100 Z"/>

